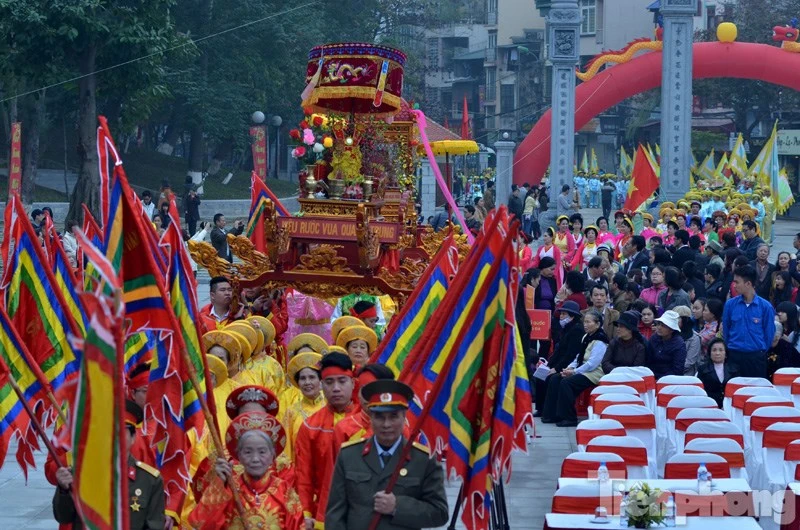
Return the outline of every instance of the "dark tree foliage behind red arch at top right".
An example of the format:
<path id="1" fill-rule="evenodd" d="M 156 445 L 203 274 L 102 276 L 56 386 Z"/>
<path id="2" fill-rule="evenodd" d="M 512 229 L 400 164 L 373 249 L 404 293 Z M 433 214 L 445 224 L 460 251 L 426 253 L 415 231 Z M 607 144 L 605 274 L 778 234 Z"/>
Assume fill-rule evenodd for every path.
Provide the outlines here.
<path id="1" fill-rule="evenodd" d="M 725 5 L 723 18 L 738 29 L 742 42 L 771 42 L 774 26 L 788 24 L 800 12 L 798 0 L 747 0 Z M 702 41 L 715 41 L 715 32 L 700 32 Z M 746 140 L 753 129 L 769 121 L 779 107 L 797 108 L 800 97 L 777 85 L 745 79 L 709 79 L 695 81 L 693 90 L 706 106 L 720 105 L 733 110 L 736 130 Z"/>

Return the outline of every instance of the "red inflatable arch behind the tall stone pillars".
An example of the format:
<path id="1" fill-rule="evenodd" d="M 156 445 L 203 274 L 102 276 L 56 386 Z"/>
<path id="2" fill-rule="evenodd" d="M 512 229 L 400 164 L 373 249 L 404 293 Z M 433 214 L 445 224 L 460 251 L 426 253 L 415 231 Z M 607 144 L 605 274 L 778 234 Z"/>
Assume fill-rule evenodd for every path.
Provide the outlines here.
<path id="1" fill-rule="evenodd" d="M 625 99 L 661 86 L 661 52 L 649 52 L 603 70 L 575 90 L 575 130 Z M 693 79 L 753 79 L 800 90 L 800 53 L 768 44 L 698 42 Z M 539 183 L 550 165 L 548 110 L 514 155 L 514 183 Z"/>

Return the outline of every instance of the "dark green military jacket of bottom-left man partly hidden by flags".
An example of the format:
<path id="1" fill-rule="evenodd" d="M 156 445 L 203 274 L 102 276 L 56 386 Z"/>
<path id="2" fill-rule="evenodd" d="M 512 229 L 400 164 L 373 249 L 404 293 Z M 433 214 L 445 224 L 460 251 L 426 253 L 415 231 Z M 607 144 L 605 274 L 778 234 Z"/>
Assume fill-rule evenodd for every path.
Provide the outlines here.
<path id="1" fill-rule="evenodd" d="M 164 530 L 164 481 L 157 469 L 128 458 L 128 498 L 130 530 Z M 56 488 L 53 515 L 58 523 L 72 523 L 73 530 L 84 528 L 67 490 Z"/>

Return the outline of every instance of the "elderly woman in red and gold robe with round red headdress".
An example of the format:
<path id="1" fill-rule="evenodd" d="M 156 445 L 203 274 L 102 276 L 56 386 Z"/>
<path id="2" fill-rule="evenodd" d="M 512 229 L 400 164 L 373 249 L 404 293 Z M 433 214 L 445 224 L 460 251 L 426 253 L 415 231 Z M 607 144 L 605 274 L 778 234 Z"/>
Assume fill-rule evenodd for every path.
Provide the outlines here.
<path id="1" fill-rule="evenodd" d="M 228 427 L 225 445 L 238 464 L 218 458 L 214 476 L 189 517 L 200 530 L 246 530 L 305 527 L 303 507 L 297 492 L 274 471 L 275 458 L 286 444 L 280 422 L 263 412 L 240 414 Z M 229 478 L 244 508 L 245 521 L 236 508 Z"/>

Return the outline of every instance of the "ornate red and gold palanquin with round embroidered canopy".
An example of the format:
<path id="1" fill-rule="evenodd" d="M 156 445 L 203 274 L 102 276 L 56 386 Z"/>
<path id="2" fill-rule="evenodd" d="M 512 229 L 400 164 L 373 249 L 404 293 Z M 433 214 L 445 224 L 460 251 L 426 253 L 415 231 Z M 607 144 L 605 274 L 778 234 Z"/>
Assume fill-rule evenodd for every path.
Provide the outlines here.
<path id="1" fill-rule="evenodd" d="M 317 298 L 350 293 L 389 295 L 401 305 L 441 248 L 455 233 L 459 254 L 469 246 L 460 227 L 440 232 L 417 225 L 414 203 L 418 131 L 411 106 L 400 98 L 405 55 L 383 46 L 318 46 L 309 55 L 304 107 L 328 116 L 335 146 L 378 150 L 369 166 L 385 169 L 381 178 L 362 170 L 364 196 L 358 200 L 330 193 L 335 178 L 301 179 L 300 212 L 277 215 L 264 208 L 266 253 L 244 236 L 228 235 L 234 263 L 220 259 L 207 243 L 189 242 L 195 261 L 212 276 L 225 276 L 238 292 L 243 287 L 291 287 Z M 384 75 L 385 74 L 385 75 Z M 339 113 L 339 114 L 337 114 Z M 340 117 L 349 113 L 348 118 Z M 336 117 L 334 117 L 336 116 Z M 379 121 L 376 121 L 379 120 Z M 380 132 L 380 141 L 362 138 Z M 366 164 L 365 164 L 366 166 Z M 317 177 L 317 178 L 314 178 Z M 321 181 L 321 182 L 320 182 Z M 369 193 L 368 193 L 369 191 Z"/>

